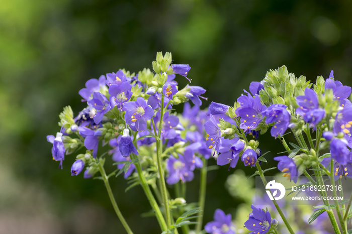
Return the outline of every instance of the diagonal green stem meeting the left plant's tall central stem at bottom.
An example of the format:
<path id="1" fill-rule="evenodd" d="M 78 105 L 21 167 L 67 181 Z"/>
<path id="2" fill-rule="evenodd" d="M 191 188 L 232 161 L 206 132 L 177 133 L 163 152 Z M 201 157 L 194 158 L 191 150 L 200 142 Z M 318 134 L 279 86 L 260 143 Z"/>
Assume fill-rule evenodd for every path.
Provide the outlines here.
<path id="1" fill-rule="evenodd" d="M 131 159 L 132 160 L 137 159 L 137 156 L 134 155 L 134 154 L 131 154 Z M 151 207 L 155 211 L 156 219 L 158 220 L 158 223 L 159 223 L 159 225 L 161 227 L 161 230 L 165 231 L 165 230 L 168 229 L 167 226 L 166 226 L 165 219 L 164 219 L 164 217 L 163 217 L 163 215 L 162 215 L 162 213 L 161 213 L 161 211 L 159 209 L 159 206 L 156 203 L 156 200 L 155 200 L 153 194 L 151 193 L 151 190 L 150 190 L 150 188 L 148 186 L 148 183 L 147 183 L 147 181 L 146 181 L 146 179 L 145 179 L 145 177 L 143 175 L 142 167 L 139 164 L 139 162 L 136 162 L 134 165 L 136 166 L 136 170 L 137 170 L 139 179 L 141 181 L 142 188 L 143 188 L 143 190 L 145 192 L 145 195 L 147 196 Z"/>

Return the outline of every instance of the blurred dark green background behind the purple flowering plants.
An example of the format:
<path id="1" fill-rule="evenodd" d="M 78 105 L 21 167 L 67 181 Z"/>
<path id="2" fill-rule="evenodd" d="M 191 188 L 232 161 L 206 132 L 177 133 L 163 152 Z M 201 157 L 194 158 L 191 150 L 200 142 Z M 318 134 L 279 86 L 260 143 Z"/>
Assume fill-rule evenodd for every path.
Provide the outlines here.
<path id="1" fill-rule="evenodd" d="M 251 81 L 282 65 L 312 81 L 334 70 L 351 85 L 351 9 L 350 1 L 327 0 L 3 0 L 0 233 L 122 231 L 103 183 L 71 177 L 74 156 L 59 170 L 46 141 L 59 129 L 63 106 L 75 113 L 84 107 L 78 90 L 86 80 L 151 68 L 156 52 L 169 51 L 174 63 L 190 64 L 192 85 L 207 89 L 204 108 L 210 101 L 233 104 Z M 261 139 L 263 152 L 283 151 L 277 144 Z M 224 188 L 232 172 L 209 173 L 205 223 L 216 208 L 234 213 L 238 201 Z M 135 233 L 158 233 L 154 218 L 140 216 L 149 210 L 142 189 L 125 193 L 122 177 L 111 183 Z M 187 195 L 194 202 L 198 192 Z"/>

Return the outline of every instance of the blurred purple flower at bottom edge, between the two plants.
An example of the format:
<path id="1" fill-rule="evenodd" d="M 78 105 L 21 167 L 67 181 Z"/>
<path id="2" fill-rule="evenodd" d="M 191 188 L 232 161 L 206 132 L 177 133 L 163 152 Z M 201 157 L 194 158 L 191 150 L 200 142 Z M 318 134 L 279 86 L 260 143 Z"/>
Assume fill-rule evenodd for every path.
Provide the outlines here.
<path id="1" fill-rule="evenodd" d="M 232 223 L 231 214 L 225 214 L 221 209 L 216 209 L 214 221 L 205 225 L 205 230 L 212 234 L 235 234 L 235 225 Z"/>

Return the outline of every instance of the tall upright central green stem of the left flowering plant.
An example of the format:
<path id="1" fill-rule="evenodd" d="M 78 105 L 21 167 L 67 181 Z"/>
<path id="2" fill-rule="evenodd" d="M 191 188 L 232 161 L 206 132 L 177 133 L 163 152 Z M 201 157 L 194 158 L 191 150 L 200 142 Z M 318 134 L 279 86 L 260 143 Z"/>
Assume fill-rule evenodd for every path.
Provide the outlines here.
<path id="1" fill-rule="evenodd" d="M 159 129 L 158 129 L 158 138 L 156 139 L 156 159 L 158 164 L 159 178 L 161 181 L 161 193 L 163 195 L 162 197 L 163 197 L 164 207 L 165 207 L 167 228 L 170 228 L 171 227 L 170 207 L 168 204 L 166 183 L 164 178 L 164 172 L 162 169 L 162 159 L 161 159 L 162 140 L 160 137 L 161 137 L 163 118 L 164 118 L 164 95 L 161 95 L 160 121 L 159 121 Z"/>

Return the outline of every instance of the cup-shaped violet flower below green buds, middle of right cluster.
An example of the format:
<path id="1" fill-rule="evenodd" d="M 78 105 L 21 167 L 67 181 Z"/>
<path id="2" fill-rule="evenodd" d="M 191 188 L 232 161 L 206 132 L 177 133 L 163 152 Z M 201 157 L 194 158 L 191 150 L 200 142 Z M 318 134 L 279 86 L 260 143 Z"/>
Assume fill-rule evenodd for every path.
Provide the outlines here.
<path id="1" fill-rule="evenodd" d="M 265 120 L 266 124 L 277 122 L 270 131 L 271 135 L 275 138 L 283 135 L 289 127 L 291 115 L 286 108 L 287 106 L 284 104 L 273 104 L 261 112 L 267 116 Z"/>

